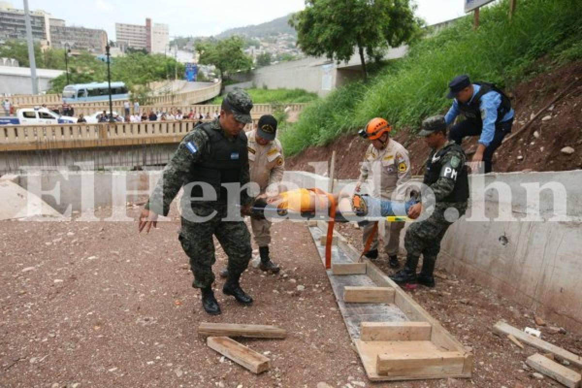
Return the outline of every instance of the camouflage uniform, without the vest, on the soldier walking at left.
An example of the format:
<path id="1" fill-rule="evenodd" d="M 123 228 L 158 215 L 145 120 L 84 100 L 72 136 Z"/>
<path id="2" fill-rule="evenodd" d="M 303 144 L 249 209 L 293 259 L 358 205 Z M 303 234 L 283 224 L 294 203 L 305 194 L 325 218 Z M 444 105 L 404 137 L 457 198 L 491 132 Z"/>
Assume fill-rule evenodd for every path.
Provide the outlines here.
<path id="1" fill-rule="evenodd" d="M 248 98 L 246 94 L 244 96 Z M 248 103 L 251 104 L 250 99 Z M 239 120 L 236 114 L 235 118 Z M 187 177 L 192 172 L 191 169 L 197 168 L 197 165 L 201 162 L 208 161 L 211 151 L 210 138 L 203 130 L 203 125 L 198 124 L 180 142 L 171 161 L 164 168 L 162 178 L 158 181 L 154 191 L 152 191 L 150 200 L 145 205 L 146 209 L 164 216 L 168 215 L 170 204 L 173 198 L 176 197 L 180 187 L 190 183 Z M 219 119 L 215 119 L 208 130 L 224 134 Z M 232 143 L 234 140 L 229 139 L 229 141 Z M 246 136 L 244 136 L 245 149 L 246 145 Z M 246 162 L 242 165 L 239 176 L 241 186 L 249 183 L 250 179 L 248 159 L 244 158 L 244 161 Z M 185 194 L 180 204 L 180 207 L 182 207 L 182 228 L 179 232 L 179 240 L 182 243 L 184 252 L 190 258 L 190 269 L 194 273 L 192 286 L 204 289 L 210 287 L 214 282 L 212 265 L 216 259 L 214 241 L 212 240 L 213 235 L 217 237 L 228 256 L 229 272 L 238 279 L 240 274 L 247 268 L 252 252 L 250 233 L 243 219 L 240 218 L 236 221 L 222 220 L 226 217 L 229 206 L 233 205 L 227 204 L 222 195 L 218 201 L 191 201 L 190 203 L 189 193 L 186 192 Z M 250 202 L 251 198 L 247 191 L 243 190 L 240 194 L 240 203 L 249 205 Z M 217 213 L 205 222 L 194 222 L 194 220 L 188 220 L 188 217 L 185 216 L 190 213 L 190 209 L 194 215 L 200 217 L 208 216 L 214 211 Z"/>

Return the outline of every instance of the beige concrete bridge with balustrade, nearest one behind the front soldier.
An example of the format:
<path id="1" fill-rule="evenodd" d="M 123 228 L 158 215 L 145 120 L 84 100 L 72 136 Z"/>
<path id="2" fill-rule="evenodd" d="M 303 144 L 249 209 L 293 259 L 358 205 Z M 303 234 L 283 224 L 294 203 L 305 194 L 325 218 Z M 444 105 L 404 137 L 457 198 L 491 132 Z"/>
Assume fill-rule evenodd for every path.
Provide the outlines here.
<path id="1" fill-rule="evenodd" d="M 305 105 L 289 104 L 288 111 L 300 112 Z M 200 107 L 208 113 L 220 109 L 219 105 Z M 254 105 L 253 123 L 245 130 L 255 128 L 260 116 L 272 113 L 275 108 L 271 104 Z M 197 122 L 0 126 L 0 173 L 27 169 L 127 170 L 161 166 L 169 161 L 176 144 Z M 79 167 L 79 163 L 86 167 Z"/>

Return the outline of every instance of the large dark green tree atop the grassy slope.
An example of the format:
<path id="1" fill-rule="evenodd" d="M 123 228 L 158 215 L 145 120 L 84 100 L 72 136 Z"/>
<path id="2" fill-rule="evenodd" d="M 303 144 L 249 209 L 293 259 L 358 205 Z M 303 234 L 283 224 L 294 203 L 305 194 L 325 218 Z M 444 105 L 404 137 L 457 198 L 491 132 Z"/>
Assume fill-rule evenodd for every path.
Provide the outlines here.
<path id="1" fill-rule="evenodd" d="M 358 48 L 364 79 L 365 54 L 379 59 L 384 49 L 398 47 L 420 36 L 421 20 L 411 0 L 306 0 L 289 24 L 297 44 L 307 55 L 349 60 Z"/>

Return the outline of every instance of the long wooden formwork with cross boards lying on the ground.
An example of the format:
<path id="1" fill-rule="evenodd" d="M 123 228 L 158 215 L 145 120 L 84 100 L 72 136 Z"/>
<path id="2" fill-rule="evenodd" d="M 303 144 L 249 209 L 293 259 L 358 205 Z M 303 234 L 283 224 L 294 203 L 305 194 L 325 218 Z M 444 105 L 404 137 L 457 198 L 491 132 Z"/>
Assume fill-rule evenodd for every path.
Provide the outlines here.
<path id="1" fill-rule="evenodd" d="M 327 223 L 308 222 L 325 264 Z M 470 378 L 473 354 L 335 232 L 329 282 L 368 379 Z"/>

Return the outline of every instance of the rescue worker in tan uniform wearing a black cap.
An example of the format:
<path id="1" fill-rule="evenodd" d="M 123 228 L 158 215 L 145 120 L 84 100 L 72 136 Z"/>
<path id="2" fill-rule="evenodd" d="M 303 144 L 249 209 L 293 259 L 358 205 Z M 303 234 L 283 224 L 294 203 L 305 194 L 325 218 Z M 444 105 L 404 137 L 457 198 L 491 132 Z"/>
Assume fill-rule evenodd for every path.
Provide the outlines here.
<path id="1" fill-rule="evenodd" d="M 250 181 L 260 187 L 260 195 L 278 194 L 279 183 L 283 179 L 285 160 L 283 148 L 275 138 L 277 120 L 271 115 L 262 115 L 258 120 L 256 130 L 247 132 L 249 138 L 249 169 Z M 271 243 L 271 222 L 267 219 L 255 219 L 251 217 L 251 229 L 254 240 L 258 245 L 261 264 L 259 268 L 271 273 L 278 273 L 279 266 L 269 257 L 269 243 Z M 220 273 L 228 275 L 226 269 Z"/>

